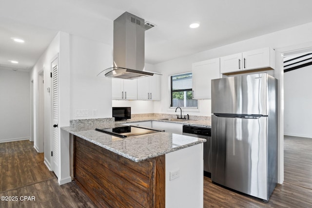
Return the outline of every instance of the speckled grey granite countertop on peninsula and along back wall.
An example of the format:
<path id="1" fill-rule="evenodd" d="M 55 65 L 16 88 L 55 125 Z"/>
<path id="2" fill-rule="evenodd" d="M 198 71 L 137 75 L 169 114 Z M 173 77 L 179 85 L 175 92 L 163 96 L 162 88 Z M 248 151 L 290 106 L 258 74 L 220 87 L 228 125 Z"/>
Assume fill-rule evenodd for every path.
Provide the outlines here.
<path id="1" fill-rule="evenodd" d="M 151 120 L 209 126 L 207 125 L 208 123 L 205 125 L 204 121 L 164 121 L 160 120 L 160 118 L 151 118 L 149 116 L 146 118 L 133 118 L 126 122 L 111 122 L 111 120 L 104 120 L 103 122 L 103 120 L 98 119 L 96 122 L 92 121 L 89 123 L 84 123 L 83 125 L 74 124 L 70 127 L 61 127 L 61 130 L 74 134 L 82 139 L 85 139 L 109 151 L 115 152 L 135 162 L 157 157 L 172 151 L 177 151 L 206 142 L 206 139 L 170 132 L 156 132 L 119 138 L 110 134 L 95 131 L 95 128 L 115 128 L 122 126 L 123 123 Z"/>

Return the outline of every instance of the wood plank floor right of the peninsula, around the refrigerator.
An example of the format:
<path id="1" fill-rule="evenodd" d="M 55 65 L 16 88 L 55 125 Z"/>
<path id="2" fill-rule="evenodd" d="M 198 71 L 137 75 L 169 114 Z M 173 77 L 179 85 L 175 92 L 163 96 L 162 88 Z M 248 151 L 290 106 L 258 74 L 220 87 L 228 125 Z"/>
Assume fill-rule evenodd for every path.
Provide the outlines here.
<path id="1" fill-rule="evenodd" d="M 312 208 L 312 139 L 284 137 L 284 183 L 277 184 L 269 202 L 236 193 L 204 177 L 204 207 Z"/>

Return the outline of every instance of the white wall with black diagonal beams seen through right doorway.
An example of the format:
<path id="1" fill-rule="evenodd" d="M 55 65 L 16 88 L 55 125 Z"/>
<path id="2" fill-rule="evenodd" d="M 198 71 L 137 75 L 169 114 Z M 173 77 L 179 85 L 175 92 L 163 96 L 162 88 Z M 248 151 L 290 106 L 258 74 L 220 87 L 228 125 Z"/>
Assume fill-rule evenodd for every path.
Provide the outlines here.
<path id="1" fill-rule="evenodd" d="M 312 138 L 312 48 L 284 54 L 284 135 Z"/>

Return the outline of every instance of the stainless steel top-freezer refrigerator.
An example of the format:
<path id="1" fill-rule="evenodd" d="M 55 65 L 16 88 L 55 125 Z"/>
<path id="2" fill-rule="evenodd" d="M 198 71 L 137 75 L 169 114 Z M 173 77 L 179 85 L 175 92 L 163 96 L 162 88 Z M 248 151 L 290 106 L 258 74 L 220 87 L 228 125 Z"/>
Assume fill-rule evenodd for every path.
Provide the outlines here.
<path id="1" fill-rule="evenodd" d="M 269 200 L 277 183 L 277 80 L 212 80 L 213 182 Z"/>

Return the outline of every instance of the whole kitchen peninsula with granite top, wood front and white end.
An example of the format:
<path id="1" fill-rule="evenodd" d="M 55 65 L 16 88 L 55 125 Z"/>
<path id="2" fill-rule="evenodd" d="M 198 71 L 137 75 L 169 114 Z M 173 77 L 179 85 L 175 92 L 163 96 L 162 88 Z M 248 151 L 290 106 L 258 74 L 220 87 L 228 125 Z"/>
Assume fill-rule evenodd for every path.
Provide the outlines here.
<path id="1" fill-rule="evenodd" d="M 95 129 L 124 123 L 86 120 L 61 129 L 71 135 L 72 176 L 99 207 L 203 206 L 205 139 L 170 132 L 119 138 Z"/>

